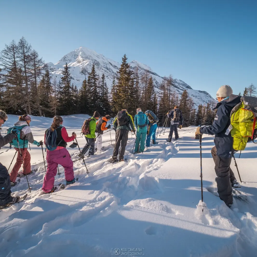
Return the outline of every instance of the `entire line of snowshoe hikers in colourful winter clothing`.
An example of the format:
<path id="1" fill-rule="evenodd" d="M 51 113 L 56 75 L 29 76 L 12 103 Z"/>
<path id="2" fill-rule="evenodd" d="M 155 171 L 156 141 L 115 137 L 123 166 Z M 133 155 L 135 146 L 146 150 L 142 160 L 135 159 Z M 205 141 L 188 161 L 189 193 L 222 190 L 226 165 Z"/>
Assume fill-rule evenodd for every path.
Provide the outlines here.
<path id="1" fill-rule="evenodd" d="M 233 113 L 233 115 L 235 115 L 243 109 L 238 109 L 238 106 L 241 105 L 245 108 L 243 110 L 247 111 L 247 107 L 245 106 L 248 105 L 248 102 L 245 102 L 241 96 L 233 95 L 233 90 L 228 85 L 220 87 L 216 96 L 218 103 L 214 109 L 217 109 L 217 113 L 213 124 L 210 126 L 197 127 L 196 136 L 203 134 L 215 135 L 215 146 L 211 150 L 215 163 L 214 169 L 217 176 L 215 181 L 217 183 L 219 197 L 228 207 L 231 207 L 233 204 L 232 187 L 241 187 L 230 168 L 231 159 L 235 151 L 244 150 L 247 139 L 249 137 L 252 139 L 253 134 L 243 136 L 239 134 L 239 128 L 237 130 L 232 128 L 232 125 L 234 125 L 234 127 L 237 126 L 236 122 L 235 124 L 231 124 L 231 114 Z M 167 118 L 171 119 L 170 133 L 167 140 L 168 142 L 171 142 L 173 133 L 175 134 L 175 140 L 179 138 L 178 128 L 181 129 L 183 125 L 182 111 L 179 110 L 178 106 L 175 106 L 173 110 L 167 113 Z M 0 110 L 0 126 L 6 120 L 6 113 Z M 84 159 L 84 155 L 88 150 L 87 157 L 94 155 L 95 152 L 101 153 L 103 133 L 105 130 L 111 128 L 111 125 L 108 124 L 110 120 L 110 115 L 100 118 L 100 114 L 96 111 L 91 118 L 84 121 L 81 132 L 85 135 L 86 145 L 81 150 L 81 154 L 79 154 L 80 158 Z M 253 119 L 250 120 L 253 121 Z M 128 133 L 130 131 L 136 134 L 134 154 L 143 152 L 145 145 L 149 147 L 151 138 L 152 144 L 156 144 L 155 134 L 158 121 L 159 120 L 156 115 L 150 110 L 147 110 L 144 113 L 141 108 L 137 108 L 134 120 L 126 109 L 122 109 L 118 112 L 113 119 L 113 129 L 116 132 L 116 137 L 113 155 L 110 162 L 125 160 L 125 148 L 128 140 Z M 238 121 L 238 124 L 242 124 L 238 118 L 236 121 Z M 37 142 L 33 139 L 33 135 L 30 130 L 30 122 L 31 117 L 29 115 L 20 116 L 19 121 L 14 124 L 14 127 L 8 129 L 8 134 L 6 136 L 3 137 L 0 133 L 0 148 L 5 144 L 10 143 L 18 152 L 17 160 L 10 176 L 6 167 L 0 163 L 0 206 L 5 206 L 6 204 L 14 201 L 14 198 L 11 196 L 11 186 L 15 186 L 17 176 L 21 176 L 18 174 L 18 171 L 22 164 L 22 158 L 24 162 L 23 175 L 25 175 L 25 173 L 28 175 L 32 172 L 30 166 L 30 154 L 27 151 L 28 142 L 37 146 L 43 145 L 42 141 Z M 255 126 L 256 129 L 254 130 L 254 133 L 257 134 L 257 125 L 255 125 L 254 122 L 253 127 L 255 128 Z M 249 131 L 246 129 L 246 133 L 248 132 Z M 44 193 L 51 193 L 56 189 L 56 187 L 54 187 L 54 177 L 57 174 L 58 164 L 64 168 L 66 185 L 75 182 L 73 161 L 66 149 L 66 146 L 67 142 L 74 141 L 76 136 L 75 132 L 72 133 L 71 136 L 68 135 L 66 128 L 63 126 L 63 119 L 61 116 L 55 116 L 51 127 L 45 131 L 44 144 L 47 149 L 46 159 L 48 166 L 42 186 Z M 244 137 L 247 137 L 247 139 Z M 245 144 L 242 144 L 242 142 L 245 142 Z"/>

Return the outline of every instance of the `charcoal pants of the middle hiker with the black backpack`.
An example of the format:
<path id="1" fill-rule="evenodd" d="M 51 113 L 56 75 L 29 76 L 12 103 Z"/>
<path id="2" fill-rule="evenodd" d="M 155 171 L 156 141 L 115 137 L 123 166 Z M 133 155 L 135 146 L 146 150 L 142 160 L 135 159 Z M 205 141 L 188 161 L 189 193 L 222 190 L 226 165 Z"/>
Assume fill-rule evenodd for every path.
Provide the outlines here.
<path id="1" fill-rule="evenodd" d="M 116 159 L 119 153 L 119 148 L 121 145 L 121 151 L 120 151 L 120 156 L 119 159 L 122 160 L 124 159 L 124 153 L 127 145 L 127 140 L 128 140 L 128 130 L 125 128 L 122 129 L 117 129 L 116 130 L 116 137 L 115 137 L 115 146 L 113 150 L 113 159 Z"/>

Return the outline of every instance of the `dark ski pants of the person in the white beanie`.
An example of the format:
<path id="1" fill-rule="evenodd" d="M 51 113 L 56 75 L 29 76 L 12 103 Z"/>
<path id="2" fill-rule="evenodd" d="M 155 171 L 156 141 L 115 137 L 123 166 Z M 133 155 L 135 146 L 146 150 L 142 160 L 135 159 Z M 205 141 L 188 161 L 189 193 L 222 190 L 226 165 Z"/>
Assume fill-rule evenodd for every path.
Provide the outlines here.
<path id="1" fill-rule="evenodd" d="M 216 146 L 212 148 L 212 158 L 215 163 L 216 182 L 218 194 L 225 204 L 233 203 L 231 182 L 235 180 L 235 175 L 230 168 L 231 158 L 221 158 L 217 155 Z"/>

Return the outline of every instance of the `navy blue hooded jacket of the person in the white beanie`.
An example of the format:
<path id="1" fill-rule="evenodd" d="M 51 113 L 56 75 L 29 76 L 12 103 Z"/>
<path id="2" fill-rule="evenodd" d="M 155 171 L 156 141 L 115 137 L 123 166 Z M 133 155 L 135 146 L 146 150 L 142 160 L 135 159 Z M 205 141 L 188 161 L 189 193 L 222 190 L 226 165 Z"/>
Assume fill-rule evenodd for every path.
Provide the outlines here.
<path id="1" fill-rule="evenodd" d="M 217 103 L 216 116 L 212 126 L 200 128 L 203 134 L 215 135 L 214 143 L 217 149 L 217 155 L 221 158 L 231 158 L 233 149 L 233 138 L 231 133 L 226 135 L 226 130 L 230 126 L 230 113 L 234 106 L 240 103 L 241 96 L 231 95 L 228 99 Z"/>

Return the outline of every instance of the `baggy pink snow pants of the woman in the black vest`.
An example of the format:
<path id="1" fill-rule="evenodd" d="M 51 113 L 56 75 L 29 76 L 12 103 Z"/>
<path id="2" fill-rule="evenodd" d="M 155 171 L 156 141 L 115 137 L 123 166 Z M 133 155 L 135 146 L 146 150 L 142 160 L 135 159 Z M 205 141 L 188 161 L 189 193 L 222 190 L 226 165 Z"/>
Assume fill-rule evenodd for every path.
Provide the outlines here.
<path id="1" fill-rule="evenodd" d="M 55 151 L 47 151 L 47 173 L 44 177 L 42 190 L 48 193 L 52 190 L 54 176 L 57 174 L 57 166 L 60 164 L 64 168 L 65 179 L 71 181 L 74 179 L 73 162 L 66 148 Z"/>

